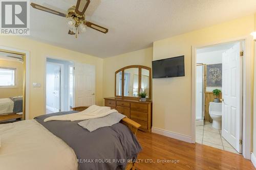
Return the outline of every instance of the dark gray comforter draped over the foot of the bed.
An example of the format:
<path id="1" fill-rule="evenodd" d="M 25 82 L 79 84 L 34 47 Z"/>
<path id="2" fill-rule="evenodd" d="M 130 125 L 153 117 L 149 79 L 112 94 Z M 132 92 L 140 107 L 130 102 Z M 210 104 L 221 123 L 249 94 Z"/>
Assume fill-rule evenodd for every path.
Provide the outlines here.
<path id="1" fill-rule="evenodd" d="M 80 121 L 44 122 L 47 117 L 74 112 L 41 115 L 35 119 L 74 150 L 78 169 L 125 169 L 127 160 L 137 158 L 140 144 L 129 128 L 121 123 L 89 132 L 77 124 Z"/>

